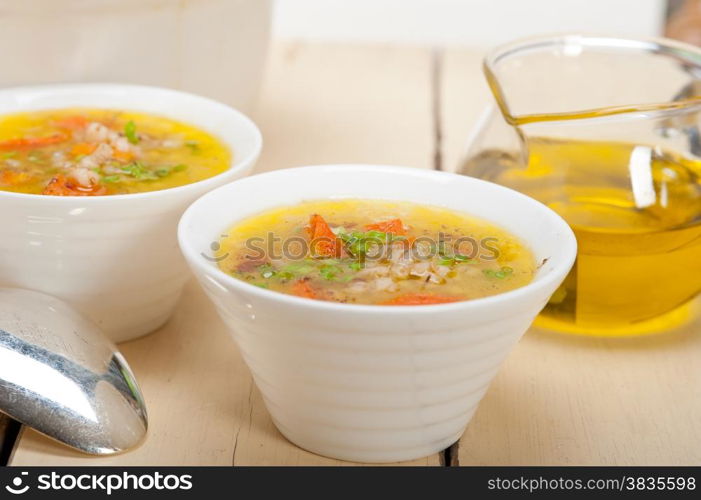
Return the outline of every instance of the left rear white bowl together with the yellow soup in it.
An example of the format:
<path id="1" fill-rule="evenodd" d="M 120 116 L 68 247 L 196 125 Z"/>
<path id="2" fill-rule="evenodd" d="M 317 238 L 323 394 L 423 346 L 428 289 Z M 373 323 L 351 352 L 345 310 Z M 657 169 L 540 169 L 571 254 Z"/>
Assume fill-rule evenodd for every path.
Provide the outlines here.
<path id="1" fill-rule="evenodd" d="M 180 215 L 262 145 L 224 104 L 136 85 L 3 89 L 0 125 L 0 286 L 61 298 L 116 342 L 170 317 Z"/>

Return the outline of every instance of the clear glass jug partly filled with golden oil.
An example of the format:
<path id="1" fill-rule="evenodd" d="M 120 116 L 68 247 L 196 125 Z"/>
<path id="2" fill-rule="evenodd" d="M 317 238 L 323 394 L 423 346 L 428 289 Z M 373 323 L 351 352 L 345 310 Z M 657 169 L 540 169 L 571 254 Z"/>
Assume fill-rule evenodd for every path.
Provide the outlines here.
<path id="1" fill-rule="evenodd" d="M 460 166 L 560 213 L 575 267 L 539 323 L 593 334 L 685 321 L 701 291 L 701 50 L 530 39 L 489 54 L 497 106 Z"/>

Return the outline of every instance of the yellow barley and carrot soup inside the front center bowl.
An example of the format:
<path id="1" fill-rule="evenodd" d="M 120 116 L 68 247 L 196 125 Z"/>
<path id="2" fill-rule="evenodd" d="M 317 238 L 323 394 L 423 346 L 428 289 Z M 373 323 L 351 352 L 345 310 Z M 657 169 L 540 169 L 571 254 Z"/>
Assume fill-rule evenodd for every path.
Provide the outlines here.
<path id="1" fill-rule="evenodd" d="M 277 292 L 333 302 L 422 305 L 529 283 L 530 250 L 467 214 L 405 202 L 308 201 L 234 225 L 220 268 Z"/>

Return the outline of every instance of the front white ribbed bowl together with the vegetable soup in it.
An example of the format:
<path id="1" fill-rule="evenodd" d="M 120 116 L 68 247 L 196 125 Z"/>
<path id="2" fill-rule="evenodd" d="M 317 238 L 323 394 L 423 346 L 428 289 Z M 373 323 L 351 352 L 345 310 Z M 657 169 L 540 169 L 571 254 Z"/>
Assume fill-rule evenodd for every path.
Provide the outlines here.
<path id="1" fill-rule="evenodd" d="M 422 236 L 428 255 L 412 255 Z M 371 165 L 238 180 L 190 206 L 178 238 L 280 432 L 362 462 L 455 442 L 576 254 L 527 196 Z"/>

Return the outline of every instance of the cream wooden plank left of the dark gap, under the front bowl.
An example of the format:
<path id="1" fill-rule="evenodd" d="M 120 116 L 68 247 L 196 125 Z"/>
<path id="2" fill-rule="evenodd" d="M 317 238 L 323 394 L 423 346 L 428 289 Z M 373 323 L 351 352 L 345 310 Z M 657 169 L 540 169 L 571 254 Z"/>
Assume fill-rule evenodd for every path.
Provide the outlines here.
<path id="1" fill-rule="evenodd" d="M 429 167 L 430 53 L 286 44 L 273 48 L 262 105 L 260 170 L 326 162 Z M 158 332 L 122 346 L 150 429 L 126 454 L 94 458 L 22 436 L 13 465 L 338 465 L 274 428 L 234 342 L 195 283 Z M 437 465 L 432 456 L 409 464 Z"/>

